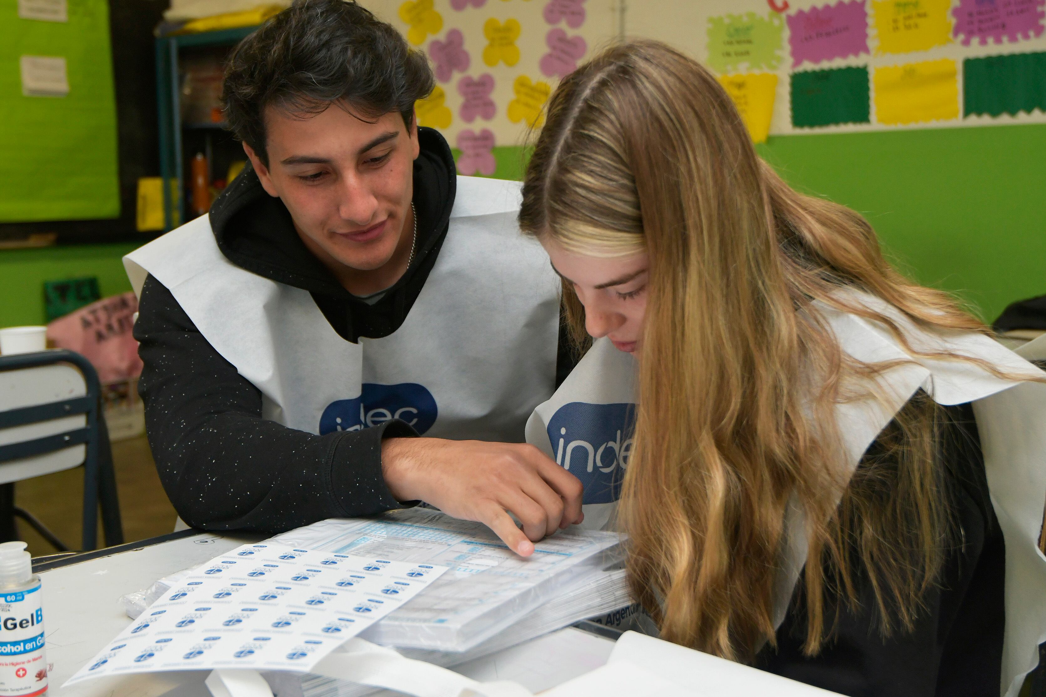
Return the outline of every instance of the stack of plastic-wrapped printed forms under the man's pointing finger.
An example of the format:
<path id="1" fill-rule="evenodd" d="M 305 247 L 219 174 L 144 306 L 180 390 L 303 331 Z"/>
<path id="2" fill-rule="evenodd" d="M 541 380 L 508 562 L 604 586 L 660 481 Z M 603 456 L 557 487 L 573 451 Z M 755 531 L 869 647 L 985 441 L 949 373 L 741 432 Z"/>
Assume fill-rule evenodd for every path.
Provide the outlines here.
<path id="1" fill-rule="evenodd" d="M 410 509 L 376 519 L 329 519 L 273 538 L 333 554 L 448 566 L 426 591 L 361 636 L 386 646 L 467 651 L 589 574 L 621 561 L 620 536 L 567 530 L 509 551 L 485 526 Z"/>

